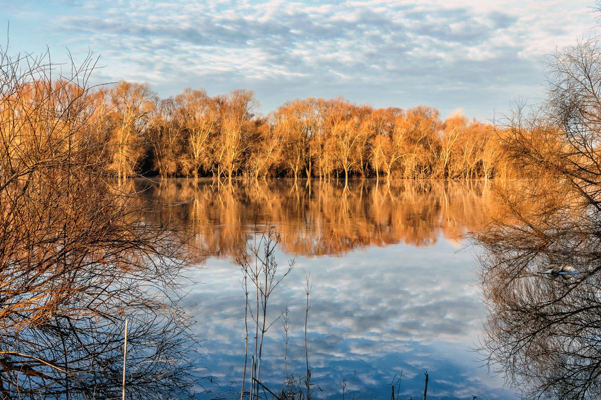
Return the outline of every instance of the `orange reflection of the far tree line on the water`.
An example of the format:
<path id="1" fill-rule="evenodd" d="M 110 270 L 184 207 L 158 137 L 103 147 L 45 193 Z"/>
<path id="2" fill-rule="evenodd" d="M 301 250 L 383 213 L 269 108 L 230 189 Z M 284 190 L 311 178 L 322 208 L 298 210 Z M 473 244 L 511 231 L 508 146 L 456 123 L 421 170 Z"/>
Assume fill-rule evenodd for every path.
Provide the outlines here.
<path id="1" fill-rule="evenodd" d="M 142 184 L 145 185 L 145 184 Z M 244 248 L 253 215 L 278 225 L 281 246 L 299 255 L 340 254 L 365 246 L 432 245 L 440 234 L 460 239 L 481 223 L 484 185 L 444 181 L 257 182 L 214 185 L 210 181 L 162 180 L 148 196 L 188 201 L 162 209 L 194 225 L 197 245 L 212 254 Z"/>

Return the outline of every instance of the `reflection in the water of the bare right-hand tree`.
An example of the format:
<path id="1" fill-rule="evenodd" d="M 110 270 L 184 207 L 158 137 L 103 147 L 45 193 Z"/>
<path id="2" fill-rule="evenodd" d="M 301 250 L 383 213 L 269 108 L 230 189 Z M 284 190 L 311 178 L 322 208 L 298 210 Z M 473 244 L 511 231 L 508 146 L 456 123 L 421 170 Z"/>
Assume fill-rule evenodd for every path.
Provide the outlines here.
<path id="1" fill-rule="evenodd" d="M 601 395 L 599 209 L 582 193 L 551 178 L 499 185 L 478 237 L 490 312 L 481 351 L 526 398 Z M 538 273 L 557 265 L 580 273 Z"/>

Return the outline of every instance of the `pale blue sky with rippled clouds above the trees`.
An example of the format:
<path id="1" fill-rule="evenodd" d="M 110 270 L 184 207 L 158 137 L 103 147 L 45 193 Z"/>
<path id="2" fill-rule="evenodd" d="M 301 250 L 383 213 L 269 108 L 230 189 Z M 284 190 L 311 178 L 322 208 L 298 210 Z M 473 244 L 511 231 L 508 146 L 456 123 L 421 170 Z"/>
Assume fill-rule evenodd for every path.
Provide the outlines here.
<path id="1" fill-rule="evenodd" d="M 0 44 L 52 62 L 99 57 L 91 83 L 461 109 L 499 119 L 543 95 L 556 49 L 596 35 L 594 0 L 0 0 Z M 8 32 L 8 34 L 7 34 Z M 67 68 L 67 67 L 65 67 Z"/>

